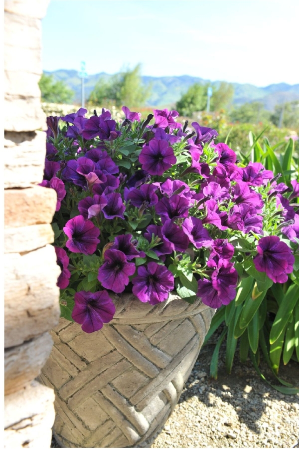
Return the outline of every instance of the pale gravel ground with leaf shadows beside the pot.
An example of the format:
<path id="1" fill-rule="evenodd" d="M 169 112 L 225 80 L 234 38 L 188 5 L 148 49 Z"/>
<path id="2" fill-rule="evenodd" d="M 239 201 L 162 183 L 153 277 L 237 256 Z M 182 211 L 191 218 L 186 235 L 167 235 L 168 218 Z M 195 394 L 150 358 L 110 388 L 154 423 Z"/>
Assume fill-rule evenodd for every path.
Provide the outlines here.
<path id="1" fill-rule="evenodd" d="M 249 361 L 238 361 L 238 354 L 231 375 L 223 355 L 218 379 L 210 379 L 213 349 L 213 344 L 202 348 L 179 403 L 146 447 L 299 448 L 299 395 L 272 389 Z M 261 368 L 270 380 L 267 366 L 261 363 Z M 283 366 L 280 376 L 299 387 L 298 363 Z M 51 447 L 57 448 L 54 440 Z"/>

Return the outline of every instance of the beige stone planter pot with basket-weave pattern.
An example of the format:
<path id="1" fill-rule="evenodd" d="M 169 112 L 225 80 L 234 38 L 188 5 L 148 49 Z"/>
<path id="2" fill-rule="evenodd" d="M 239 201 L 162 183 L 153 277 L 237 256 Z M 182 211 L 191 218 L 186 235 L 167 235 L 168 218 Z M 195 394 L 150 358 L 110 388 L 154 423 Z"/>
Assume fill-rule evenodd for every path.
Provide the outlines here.
<path id="1" fill-rule="evenodd" d="M 125 448 L 148 441 L 177 404 L 215 312 L 175 294 L 151 306 L 112 296 L 116 314 L 86 334 L 61 319 L 40 380 L 56 394 L 57 443 Z"/>

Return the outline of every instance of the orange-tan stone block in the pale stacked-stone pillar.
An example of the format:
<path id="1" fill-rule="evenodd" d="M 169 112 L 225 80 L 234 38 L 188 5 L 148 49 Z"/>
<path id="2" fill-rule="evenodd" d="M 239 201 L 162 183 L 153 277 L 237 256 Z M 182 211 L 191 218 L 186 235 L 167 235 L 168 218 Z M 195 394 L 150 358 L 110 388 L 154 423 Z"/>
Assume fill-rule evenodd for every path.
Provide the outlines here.
<path id="1" fill-rule="evenodd" d="M 4 227 L 51 223 L 57 195 L 54 189 L 34 186 L 4 191 Z"/>

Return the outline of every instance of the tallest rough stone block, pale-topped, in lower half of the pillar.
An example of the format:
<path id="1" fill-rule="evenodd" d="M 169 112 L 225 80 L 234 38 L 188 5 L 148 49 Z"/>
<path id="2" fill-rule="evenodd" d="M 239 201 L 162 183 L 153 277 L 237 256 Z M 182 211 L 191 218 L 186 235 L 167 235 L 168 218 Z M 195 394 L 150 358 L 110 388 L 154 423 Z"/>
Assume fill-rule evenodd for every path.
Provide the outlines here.
<path id="1" fill-rule="evenodd" d="M 4 343 L 8 348 L 57 324 L 60 268 L 51 245 L 24 255 L 4 254 L 4 267 Z"/>

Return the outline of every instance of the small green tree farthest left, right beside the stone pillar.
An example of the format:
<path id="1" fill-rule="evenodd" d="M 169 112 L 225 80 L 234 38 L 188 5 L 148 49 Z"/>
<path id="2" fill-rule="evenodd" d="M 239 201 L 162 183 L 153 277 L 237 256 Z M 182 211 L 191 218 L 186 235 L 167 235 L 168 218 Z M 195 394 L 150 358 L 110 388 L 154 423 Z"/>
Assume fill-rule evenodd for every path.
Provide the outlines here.
<path id="1" fill-rule="evenodd" d="M 39 80 L 41 101 L 46 103 L 71 104 L 75 92 L 63 81 L 54 81 L 53 75 L 43 73 Z"/>

